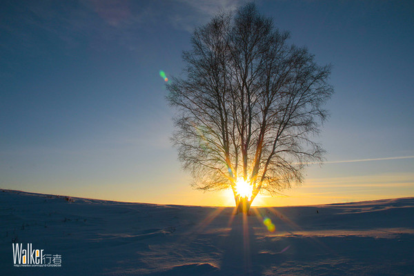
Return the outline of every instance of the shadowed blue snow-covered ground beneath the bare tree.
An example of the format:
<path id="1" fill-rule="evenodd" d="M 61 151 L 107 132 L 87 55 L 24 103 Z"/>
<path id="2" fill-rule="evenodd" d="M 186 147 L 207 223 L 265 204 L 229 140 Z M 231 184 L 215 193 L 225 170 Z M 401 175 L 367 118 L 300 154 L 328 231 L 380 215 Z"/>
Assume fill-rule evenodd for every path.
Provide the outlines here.
<path id="1" fill-rule="evenodd" d="M 232 213 L 0 190 L 0 274 L 414 275 L 414 198 Z"/>

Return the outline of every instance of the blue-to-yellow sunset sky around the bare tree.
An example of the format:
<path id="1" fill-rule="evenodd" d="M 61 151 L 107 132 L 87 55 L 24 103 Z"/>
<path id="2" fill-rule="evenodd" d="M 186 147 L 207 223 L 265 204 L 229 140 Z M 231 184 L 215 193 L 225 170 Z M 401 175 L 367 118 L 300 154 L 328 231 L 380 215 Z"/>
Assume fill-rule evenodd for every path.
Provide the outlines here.
<path id="1" fill-rule="evenodd" d="M 172 148 L 167 77 L 190 36 L 245 1 L 2 1 L 0 188 L 232 206 L 190 187 Z M 414 2 L 255 1 L 289 43 L 331 63 L 327 151 L 302 185 L 253 206 L 414 197 Z"/>

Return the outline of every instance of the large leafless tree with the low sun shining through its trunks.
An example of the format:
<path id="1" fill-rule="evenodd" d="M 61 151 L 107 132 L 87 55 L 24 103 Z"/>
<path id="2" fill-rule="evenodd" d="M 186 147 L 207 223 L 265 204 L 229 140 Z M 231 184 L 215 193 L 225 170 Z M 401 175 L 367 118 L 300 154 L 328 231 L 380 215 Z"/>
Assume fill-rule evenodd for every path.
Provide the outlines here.
<path id="1" fill-rule="evenodd" d="M 239 212 L 259 192 L 302 182 L 322 162 L 313 137 L 333 88 L 330 66 L 288 43 L 273 21 L 248 4 L 197 28 L 184 52 L 184 77 L 168 85 L 177 109 L 172 140 L 201 190 L 231 188 Z"/>

